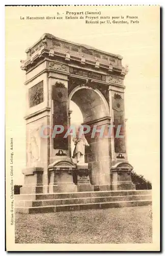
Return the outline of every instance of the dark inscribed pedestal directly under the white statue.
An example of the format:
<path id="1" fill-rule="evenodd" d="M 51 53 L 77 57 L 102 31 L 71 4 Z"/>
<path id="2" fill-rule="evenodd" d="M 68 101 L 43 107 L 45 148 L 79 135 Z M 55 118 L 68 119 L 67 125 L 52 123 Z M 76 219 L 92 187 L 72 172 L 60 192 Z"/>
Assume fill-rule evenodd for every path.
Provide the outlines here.
<path id="1" fill-rule="evenodd" d="M 77 191 L 94 191 L 94 186 L 90 182 L 90 170 L 88 169 L 88 163 L 79 163 L 76 166 L 77 173 Z"/>

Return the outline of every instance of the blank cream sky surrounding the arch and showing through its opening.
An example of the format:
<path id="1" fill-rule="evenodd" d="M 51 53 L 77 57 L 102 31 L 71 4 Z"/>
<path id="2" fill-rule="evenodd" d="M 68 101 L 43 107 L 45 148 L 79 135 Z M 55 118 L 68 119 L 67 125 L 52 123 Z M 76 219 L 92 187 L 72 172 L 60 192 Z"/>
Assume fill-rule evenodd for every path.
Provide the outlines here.
<path id="1" fill-rule="evenodd" d="M 105 16 L 138 16 L 140 23 L 86 25 L 83 20 L 21 20 L 20 16 L 53 16 L 62 9 L 6 8 L 6 130 L 13 137 L 15 184 L 23 184 L 21 170 L 25 168 L 25 72 L 20 69 L 20 60 L 26 58 L 25 49 L 44 33 L 123 56 L 123 66 L 129 67 L 124 80 L 128 161 L 137 174 L 150 181 L 159 173 L 158 13 L 145 6 L 96 8 Z M 74 103 L 71 109 L 72 122 L 77 121 L 79 109 Z"/>

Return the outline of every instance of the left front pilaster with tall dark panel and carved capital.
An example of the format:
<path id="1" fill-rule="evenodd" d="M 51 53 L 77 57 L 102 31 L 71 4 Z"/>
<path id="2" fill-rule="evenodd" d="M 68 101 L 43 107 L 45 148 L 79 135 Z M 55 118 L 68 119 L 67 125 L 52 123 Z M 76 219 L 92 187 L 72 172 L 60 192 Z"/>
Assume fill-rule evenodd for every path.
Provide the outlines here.
<path id="1" fill-rule="evenodd" d="M 50 138 L 50 164 L 63 157 L 69 157 L 68 137 L 64 138 L 68 129 L 68 72 L 69 67 L 66 63 L 57 61 L 48 62 L 49 70 L 49 98 L 50 98 L 50 126 L 64 126 L 64 131 Z M 62 154 L 61 154 L 62 153 Z"/>

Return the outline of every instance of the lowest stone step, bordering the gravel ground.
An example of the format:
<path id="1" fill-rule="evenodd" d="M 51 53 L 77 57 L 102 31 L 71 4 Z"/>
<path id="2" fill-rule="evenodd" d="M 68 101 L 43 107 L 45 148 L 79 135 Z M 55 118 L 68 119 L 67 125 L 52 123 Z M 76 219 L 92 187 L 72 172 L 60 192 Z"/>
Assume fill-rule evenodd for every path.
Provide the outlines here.
<path id="1" fill-rule="evenodd" d="M 59 212 L 59 211 L 74 211 L 74 210 L 87 210 L 87 209 L 106 209 L 116 207 L 131 207 L 131 206 L 144 206 L 152 204 L 151 200 L 140 201 L 118 201 L 118 202 L 102 202 L 102 203 L 86 203 L 86 204 L 69 204 L 57 206 L 42 206 L 42 207 L 17 207 L 16 212 L 24 214 L 36 214 L 46 212 Z"/>

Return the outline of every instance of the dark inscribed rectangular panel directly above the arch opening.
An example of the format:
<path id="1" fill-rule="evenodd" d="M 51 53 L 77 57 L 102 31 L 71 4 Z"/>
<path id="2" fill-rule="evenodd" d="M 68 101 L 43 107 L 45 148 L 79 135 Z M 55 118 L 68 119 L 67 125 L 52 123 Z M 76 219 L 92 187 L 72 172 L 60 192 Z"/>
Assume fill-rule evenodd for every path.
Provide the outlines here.
<path id="1" fill-rule="evenodd" d="M 96 80 L 100 80 L 100 81 L 106 81 L 106 76 L 93 72 L 93 71 L 89 71 L 89 70 L 83 70 L 83 69 L 77 69 L 77 68 L 73 68 L 73 67 L 69 67 L 69 72 L 70 74 L 73 75 L 77 75 L 77 76 L 83 76 L 83 77 L 88 77 L 91 79 L 96 79 Z"/>

